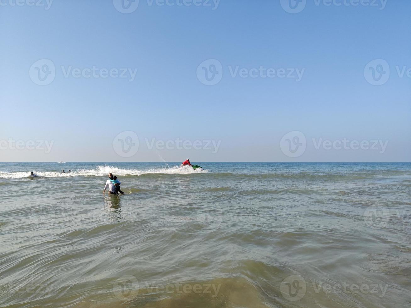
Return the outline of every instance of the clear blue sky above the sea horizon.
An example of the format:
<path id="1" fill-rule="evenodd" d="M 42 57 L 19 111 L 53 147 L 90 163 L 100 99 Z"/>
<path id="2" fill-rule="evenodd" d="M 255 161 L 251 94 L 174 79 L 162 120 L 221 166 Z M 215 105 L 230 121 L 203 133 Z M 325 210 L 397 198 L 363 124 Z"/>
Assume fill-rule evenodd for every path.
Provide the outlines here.
<path id="1" fill-rule="evenodd" d="M 18 1 L 0 161 L 411 161 L 409 0 Z"/>

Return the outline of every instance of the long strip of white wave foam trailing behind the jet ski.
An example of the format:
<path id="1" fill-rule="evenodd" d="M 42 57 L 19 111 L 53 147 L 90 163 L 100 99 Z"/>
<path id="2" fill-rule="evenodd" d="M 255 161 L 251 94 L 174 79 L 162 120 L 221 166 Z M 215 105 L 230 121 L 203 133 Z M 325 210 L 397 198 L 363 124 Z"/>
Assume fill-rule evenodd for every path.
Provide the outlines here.
<path id="1" fill-rule="evenodd" d="M 34 171 L 34 170 L 33 170 Z M 139 169 L 122 169 L 113 166 L 97 166 L 95 169 L 81 169 L 78 171 L 72 172 L 55 172 L 55 171 L 34 171 L 34 174 L 38 177 L 76 177 L 76 176 L 95 176 L 101 177 L 106 176 L 109 173 L 117 176 L 126 176 L 126 175 L 144 175 L 144 174 L 191 174 L 191 173 L 207 173 L 208 170 L 196 169 L 194 170 L 190 166 L 175 166 L 172 168 L 152 168 L 148 170 L 139 170 Z M 1 172 L 0 179 L 23 179 L 30 177 L 30 172 Z"/>

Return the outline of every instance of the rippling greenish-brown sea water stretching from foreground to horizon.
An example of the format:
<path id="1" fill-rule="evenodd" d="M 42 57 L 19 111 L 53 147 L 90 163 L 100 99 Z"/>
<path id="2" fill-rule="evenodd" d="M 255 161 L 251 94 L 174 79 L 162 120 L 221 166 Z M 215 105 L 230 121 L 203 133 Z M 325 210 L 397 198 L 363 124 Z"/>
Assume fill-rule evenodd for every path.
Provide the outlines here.
<path id="1" fill-rule="evenodd" d="M 196 163 L 0 163 L 0 306 L 411 305 L 410 163 Z"/>

